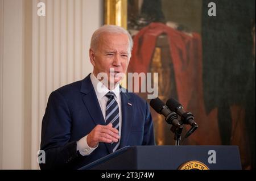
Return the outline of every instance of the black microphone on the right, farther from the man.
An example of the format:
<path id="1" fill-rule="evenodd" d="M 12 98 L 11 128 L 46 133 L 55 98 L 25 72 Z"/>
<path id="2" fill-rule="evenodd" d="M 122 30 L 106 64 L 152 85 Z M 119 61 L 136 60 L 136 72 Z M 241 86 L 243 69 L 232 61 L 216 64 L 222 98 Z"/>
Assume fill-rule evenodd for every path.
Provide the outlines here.
<path id="1" fill-rule="evenodd" d="M 198 128 L 198 125 L 194 121 L 194 117 L 191 112 L 185 112 L 183 110 L 183 106 L 177 102 L 175 99 L 168 99 L 166 102 L 168 108 L 170 108 L 171 111 L 176 112 L 180 117 L 181 120 L 183 121 L 184 124 L 189 124 L 191 125 L 191 129 L 185 134 L 185 138 L 190 136 L 196 129 Z"/>

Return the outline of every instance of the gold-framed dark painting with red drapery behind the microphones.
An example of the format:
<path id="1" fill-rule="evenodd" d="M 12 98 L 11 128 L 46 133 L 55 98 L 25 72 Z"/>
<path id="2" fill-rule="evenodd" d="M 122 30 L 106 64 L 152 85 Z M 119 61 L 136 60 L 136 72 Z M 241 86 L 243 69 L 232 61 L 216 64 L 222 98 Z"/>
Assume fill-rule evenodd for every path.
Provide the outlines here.
<path id="1" fill-rule="evenodd" d="M 158 97 L 193 113 L 199 128 L 184 138 L 184 123 L 181 144 L 238 145 L 243 169 L 255 169 L 254 0 L 106 0 L 105 24 L 133 36 L 128 72 L 158 73 Z M 151 113 L 156 144 L 174 145 Z"/>

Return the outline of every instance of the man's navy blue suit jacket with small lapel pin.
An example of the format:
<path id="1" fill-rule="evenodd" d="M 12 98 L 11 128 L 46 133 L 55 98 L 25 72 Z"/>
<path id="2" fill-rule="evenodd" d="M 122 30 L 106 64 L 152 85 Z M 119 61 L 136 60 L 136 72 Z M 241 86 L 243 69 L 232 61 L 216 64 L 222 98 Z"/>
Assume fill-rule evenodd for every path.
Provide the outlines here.
<path id="1" fill-rule="evenodd" d="M 147 102 L 130 92 L 121 92 L 121 102 L 120 148 L 154 145 L 154 128 Z M 103 142 L 84 157 L 76 150 L 76 141 L 89 134 L 97 124 L 105 125 L 105 120 L 89 75 L 53 91 L 42 122 L 40 149 L 46 151 L 46 163 L 41 163 L 40 168 L 79 169 L 112 153 L 110 144 Z"/>

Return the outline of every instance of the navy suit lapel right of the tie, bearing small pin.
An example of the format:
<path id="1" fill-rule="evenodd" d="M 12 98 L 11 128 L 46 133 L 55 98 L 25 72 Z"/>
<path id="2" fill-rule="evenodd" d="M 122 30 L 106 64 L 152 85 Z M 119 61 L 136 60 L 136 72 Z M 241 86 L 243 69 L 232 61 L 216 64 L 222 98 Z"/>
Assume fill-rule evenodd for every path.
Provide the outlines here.
<path id="1" fill-rule="evenodd" d="M 121 91 L 121 102 L 122 102 L 122 132 L 120 148 L 127 146 L 127 141 L 131 131 L 131 115 L 133 114 L 133 106 L 130 100 L 129 93 Z M 128 104 L 129 103 L 129 104 Z"/>

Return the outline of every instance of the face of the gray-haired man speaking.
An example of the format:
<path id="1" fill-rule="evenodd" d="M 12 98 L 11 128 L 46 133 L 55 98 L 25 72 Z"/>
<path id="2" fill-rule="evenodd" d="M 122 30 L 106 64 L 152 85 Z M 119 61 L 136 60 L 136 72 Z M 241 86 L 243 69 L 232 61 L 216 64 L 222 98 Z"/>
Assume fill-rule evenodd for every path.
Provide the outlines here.
<path id="1" fill-rule="evenodd" d="M 129 38 L 126 34 L 101 35 L 97 49 L 90 49 L 90 62 L 93 65 L 94 75 L 97 77 L 99 73 L 106 73 L 109 83 L 115 84 L 121 81 L 122 74 L 126 73 L 129 64 L 128 46 Z M 114 73 L 110 73 L 110 68 L 114 69 Z"/>

